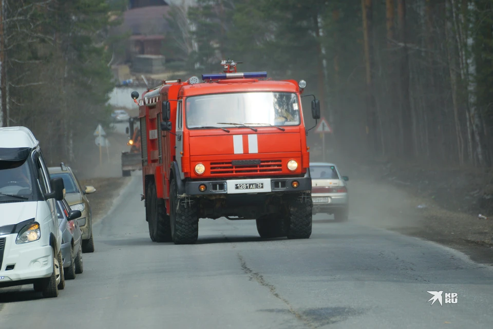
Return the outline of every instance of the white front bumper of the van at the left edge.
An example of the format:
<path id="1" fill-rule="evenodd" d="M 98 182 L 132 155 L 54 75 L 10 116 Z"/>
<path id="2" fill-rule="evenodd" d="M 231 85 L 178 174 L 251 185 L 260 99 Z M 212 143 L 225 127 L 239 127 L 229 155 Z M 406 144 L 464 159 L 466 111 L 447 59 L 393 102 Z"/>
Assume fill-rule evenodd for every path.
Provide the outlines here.
<path id="1" fill-rule="evenodd" d="M 0 268 L 0 287 L 15 281 L 47 278 L 52 274 L 51 246 L 41 246 L 40 241 L 15 244 L 16 235 L 2 237 L 6 241 Z"/>

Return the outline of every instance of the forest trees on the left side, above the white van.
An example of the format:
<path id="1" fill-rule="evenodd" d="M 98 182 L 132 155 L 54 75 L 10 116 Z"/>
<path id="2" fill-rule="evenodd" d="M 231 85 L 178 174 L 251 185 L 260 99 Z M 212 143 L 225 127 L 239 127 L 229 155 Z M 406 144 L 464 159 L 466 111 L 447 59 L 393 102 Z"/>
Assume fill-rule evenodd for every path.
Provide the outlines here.
<path id="1" fill-rule="evenodd" d="M 27 126 L 51 163 L 108 121 L 111 26 L 125 2 L 0 0 L 1 126 Z"/>

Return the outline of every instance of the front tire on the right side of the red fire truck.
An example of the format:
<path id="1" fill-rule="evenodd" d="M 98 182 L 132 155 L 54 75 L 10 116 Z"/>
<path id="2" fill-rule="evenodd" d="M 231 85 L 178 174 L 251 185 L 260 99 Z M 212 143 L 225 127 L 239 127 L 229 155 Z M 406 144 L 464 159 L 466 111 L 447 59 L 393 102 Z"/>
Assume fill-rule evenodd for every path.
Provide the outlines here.
<path id="1" fill-rule="evenodd" d="M 288 205 L 288 239 L 308 239 L 312 235 L 312 200 L 293 198 Z"/>

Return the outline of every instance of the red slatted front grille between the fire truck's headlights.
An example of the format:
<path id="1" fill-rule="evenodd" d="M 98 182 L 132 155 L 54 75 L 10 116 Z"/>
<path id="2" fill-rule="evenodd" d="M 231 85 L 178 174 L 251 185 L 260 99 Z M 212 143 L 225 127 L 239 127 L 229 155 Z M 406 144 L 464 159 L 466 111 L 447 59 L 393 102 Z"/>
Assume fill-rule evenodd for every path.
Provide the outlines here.
<path id="1" fill-rule="evenodd" d="M 211 162 L 211 175 L 224 175 L 225 173 L 271 173 L 271 172 L 282 172 L 281 160 L 265 160 L 265 161 L 245 160 L 244 163 L 240 163 L 240 164 L 237 164 L 234 161 Z"/>

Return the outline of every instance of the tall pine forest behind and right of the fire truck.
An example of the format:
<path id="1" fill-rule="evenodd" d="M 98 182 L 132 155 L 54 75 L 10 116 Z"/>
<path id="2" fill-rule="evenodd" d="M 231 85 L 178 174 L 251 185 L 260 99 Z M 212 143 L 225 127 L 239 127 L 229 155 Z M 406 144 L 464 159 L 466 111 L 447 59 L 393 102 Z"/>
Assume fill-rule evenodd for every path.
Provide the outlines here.
<path id="1" fill-rule="evenodd" d="M 305 79 L 340 154 L 493 165 L 493 0 L 198 0 L 167 19 L 177 70 Z"/>

